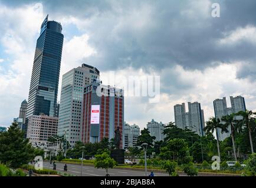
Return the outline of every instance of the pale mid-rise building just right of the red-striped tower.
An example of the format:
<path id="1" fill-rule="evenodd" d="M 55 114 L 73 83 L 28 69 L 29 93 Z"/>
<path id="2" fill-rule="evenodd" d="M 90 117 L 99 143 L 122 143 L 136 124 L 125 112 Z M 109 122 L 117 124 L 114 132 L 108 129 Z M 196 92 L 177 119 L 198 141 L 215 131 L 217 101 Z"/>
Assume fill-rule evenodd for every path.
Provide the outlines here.
<path id="1" fill-rule="evenodd" d="M 137 143 L 138 136 L 140 135 L 140 127 L 133 124 L 129 125 L 124 122 L 123 127 L 123 148 L 135 147 Z"/>

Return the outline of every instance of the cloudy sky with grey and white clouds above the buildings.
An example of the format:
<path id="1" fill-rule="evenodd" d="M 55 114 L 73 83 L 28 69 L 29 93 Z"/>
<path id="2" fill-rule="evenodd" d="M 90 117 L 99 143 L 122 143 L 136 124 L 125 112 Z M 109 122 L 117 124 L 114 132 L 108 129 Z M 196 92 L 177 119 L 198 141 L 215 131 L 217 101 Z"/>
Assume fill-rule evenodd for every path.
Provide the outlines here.
<path id="1" fill-rule="evenodd" d="M 220 18 L 212 17 L 214 2 Z M 212 101 L 224 96 L 229 104 L 229 96 L 242 95 L 247 108 L 256 110 L 255 9 L 254 0 L 0 0 L 0 125 L 10 125 L 28 98 L 35 44 L 47 14 L 63 25 L 60 80 L 81 63 L 96 66 L 103 83 L 110 71 L 160 76 L 159 103 L 125 99 L 124 120 L 130 124 L 174 121 L 175 104 L 195 101 L 207 120 L 214 116 Z"/>

